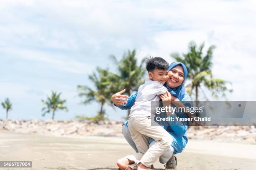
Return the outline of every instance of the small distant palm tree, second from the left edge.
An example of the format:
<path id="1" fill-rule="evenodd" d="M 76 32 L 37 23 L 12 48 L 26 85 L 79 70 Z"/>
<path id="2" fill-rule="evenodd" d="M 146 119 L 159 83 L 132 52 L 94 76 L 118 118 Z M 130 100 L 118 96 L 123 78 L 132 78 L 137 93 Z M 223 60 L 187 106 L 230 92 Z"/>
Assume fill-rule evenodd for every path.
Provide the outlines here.
<path id="1" fill-rule="evenodd" d="M 54 120 L 54 115 L 57 110 L 68 111 L 66 106 L 63 106 L 66 103 L 66 100 L 60 99 L 61 93 L 57 94 L 57 92 L 51 91 L 51 97 L 47 96 L 47 100 L 42 100 L 45 107 L 42 108 L 42 116 L 45 116 L 46 113 L 52 112 L 51 119 Z"/>

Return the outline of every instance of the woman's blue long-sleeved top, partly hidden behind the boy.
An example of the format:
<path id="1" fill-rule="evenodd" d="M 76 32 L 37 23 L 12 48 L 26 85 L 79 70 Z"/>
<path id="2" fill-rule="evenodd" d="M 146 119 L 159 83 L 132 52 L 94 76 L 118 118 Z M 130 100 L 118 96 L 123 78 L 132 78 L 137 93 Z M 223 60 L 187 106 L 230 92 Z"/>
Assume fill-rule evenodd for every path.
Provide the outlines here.
<path id="1" fill-rule="evenodd" d="M 131 109 L 133 106 L 136 97 L 137 97 L 137 92 L 130 97 L 128 97 L 128 101 L 125 106 L 117 106 L 122 110 L 128 110 Z M 191 101 L 191 98 L 185 92 L 184 97 L 182 98 L 182 101 Z M 179 117 L 188 117 L 187 114 L 185 113 L 177 113 L 175 112 Z M 175 123 L 175 125 L 174 125 Z M 124 125 L 127 126 L 128 120 L 124 123 Z M 173 142 L 172 142 L 172 147 L 174 148 L 174 154 L 181 153 L 182 150 L 185 148 L 187 145 L 187 121 L 170 121 L 169 126 L 163 126 L 163 128 L 172 136 Z M 153 142 L 154 139 L 149 138 L 149 143 Z"/>

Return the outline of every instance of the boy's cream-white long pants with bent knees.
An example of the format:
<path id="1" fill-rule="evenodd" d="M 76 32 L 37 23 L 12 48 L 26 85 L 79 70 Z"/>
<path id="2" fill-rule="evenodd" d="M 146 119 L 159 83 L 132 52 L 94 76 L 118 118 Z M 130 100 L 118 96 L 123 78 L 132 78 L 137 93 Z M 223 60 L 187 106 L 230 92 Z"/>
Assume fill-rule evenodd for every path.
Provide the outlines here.
<path id="1" fill-rule="evenodd" d="M 151 126 L 150 117 L 132 117 L 129 119 L 128 128 L 139 153 L 127 158 L 136 163 L 140 160 L 143 165 L 150 167 L 172 146 L 172 136 L 161 126 Z M 156 141 L 149 149 L 148 137 Z"/>

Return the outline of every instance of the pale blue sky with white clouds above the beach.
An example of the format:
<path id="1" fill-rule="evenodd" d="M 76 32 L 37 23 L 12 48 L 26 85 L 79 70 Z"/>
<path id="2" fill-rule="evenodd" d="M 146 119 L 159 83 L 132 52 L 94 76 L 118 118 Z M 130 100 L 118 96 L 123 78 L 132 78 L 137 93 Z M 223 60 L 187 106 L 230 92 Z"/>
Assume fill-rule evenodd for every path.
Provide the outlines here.
<path id="1" fill-rule="evenodd" d="M 100 106 L 82 105 L 77 85 L 93 87 L 88 75 L 97 66 L 115 70 L 110 55 L 120 60 L 136 49 L 138 60 L 171 63 L 192 40 L 205 51 L 216 46 L 212 72 L 232 82 L 228 100 L 256 100 L 255 7 L 255 0 L 0 0 L 0 101 L 13 103 L 10 119 L 47 120 L 41 99 L 54 90 L 69 109 L 56 120 L 95 116 Z M 110 119 L 126 115 L 105 109 Z"/>

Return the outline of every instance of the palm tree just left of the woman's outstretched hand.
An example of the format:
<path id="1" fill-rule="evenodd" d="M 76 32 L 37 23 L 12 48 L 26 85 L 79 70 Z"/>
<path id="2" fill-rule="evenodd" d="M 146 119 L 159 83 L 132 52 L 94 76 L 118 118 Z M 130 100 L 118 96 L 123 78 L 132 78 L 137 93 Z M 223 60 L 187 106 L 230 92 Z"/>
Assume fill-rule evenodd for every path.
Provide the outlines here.
<path id="1" fill-rule="evenodd" d="M 110 105 L 110 98 L 115 89 L 114 83 L 117 81 L 117 76 L 108 69 L 102 69 L 97 67 L 97 72 L 93 72 L 89 75 L 89 79 L 94 84 L 95 88 L 88 87 L 87 85 L 78 85 L 77 90 L 80 97 L 86 97 L 82 102 L 83 104 L 89 104 L 90 102 L 96 100 L 100 103 L 100 110 L 98 115 L 95 117 L 97 120 L 105 119 L 104 105 L 107 103 Z"/>

